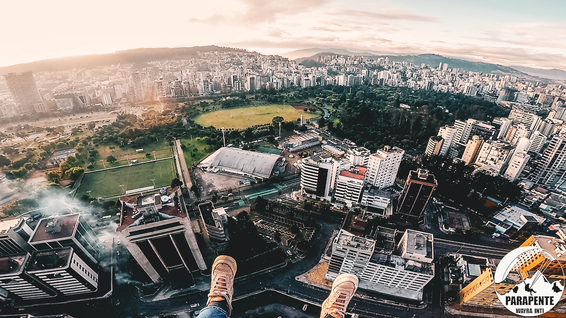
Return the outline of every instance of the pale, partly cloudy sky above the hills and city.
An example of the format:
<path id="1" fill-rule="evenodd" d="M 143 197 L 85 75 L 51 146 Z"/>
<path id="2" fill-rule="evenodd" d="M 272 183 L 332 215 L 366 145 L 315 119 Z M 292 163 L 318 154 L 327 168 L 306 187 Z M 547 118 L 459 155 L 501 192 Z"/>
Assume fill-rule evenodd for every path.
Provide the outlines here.
<path id="1" fill-rule="evenodd" d="M 0 66 L 135 48 L 220 45 L 435 53 L 566 69 L 566 1 L 3 1 Z"/>

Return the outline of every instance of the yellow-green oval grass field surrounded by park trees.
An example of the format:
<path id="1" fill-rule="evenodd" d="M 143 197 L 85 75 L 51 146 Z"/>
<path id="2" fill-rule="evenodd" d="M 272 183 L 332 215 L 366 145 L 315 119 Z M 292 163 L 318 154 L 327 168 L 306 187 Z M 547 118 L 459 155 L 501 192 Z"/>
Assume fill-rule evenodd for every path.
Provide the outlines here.
<path id="1" fill-rule="evenodd" d="M 285 121 L 295 121 L 303 114 L 303 120 L 317 117 L 320 111 L 305 113 L 300 109 L 294 109 L 290 105 L 261 105 L 241 108 L 221 109 L 209 111 L 197 115 L 194 121 L 203 127 L 214 126 L 216 128 L 242 129 L 256 124 L 271 123 L 273 117 L 281 116 Z"/>

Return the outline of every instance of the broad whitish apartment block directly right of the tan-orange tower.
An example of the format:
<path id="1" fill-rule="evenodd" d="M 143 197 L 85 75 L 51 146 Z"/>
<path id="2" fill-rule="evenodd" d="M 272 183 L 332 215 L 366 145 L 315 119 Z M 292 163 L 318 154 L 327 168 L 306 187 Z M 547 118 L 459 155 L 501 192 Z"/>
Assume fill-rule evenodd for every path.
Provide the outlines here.
<path id="1" fill-rule="evenodd" d="M 475 163 L 482 165 L 487 173 L 499 175 L 507 167 L 514 150 L 514 147 L 503 141 L 486 140 L 479 149 Z"/>

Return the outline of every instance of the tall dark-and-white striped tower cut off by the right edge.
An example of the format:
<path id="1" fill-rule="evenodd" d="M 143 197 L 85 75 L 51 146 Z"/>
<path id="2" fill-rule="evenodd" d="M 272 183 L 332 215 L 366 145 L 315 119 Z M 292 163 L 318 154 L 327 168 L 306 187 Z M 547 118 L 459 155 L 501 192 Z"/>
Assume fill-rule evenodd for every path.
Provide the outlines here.
<path id="1" fill-rule="evenodd" d="M 566 181 L 566 134 L 554 136 L 537 160 L 531 181 L 546 188 L 558 188 Z"/>

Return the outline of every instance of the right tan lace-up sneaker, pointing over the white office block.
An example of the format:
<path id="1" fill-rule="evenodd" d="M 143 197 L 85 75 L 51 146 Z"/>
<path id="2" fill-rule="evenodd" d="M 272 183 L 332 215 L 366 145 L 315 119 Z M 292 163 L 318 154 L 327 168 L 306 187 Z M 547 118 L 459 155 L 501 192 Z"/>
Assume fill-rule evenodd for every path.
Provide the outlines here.
<path id="1" fill-rule="evenodd" d="M 344 318 L 346 307 L 358 289 L 358 277 L 354 274 L 342 273 L 332 282 L 330 295 L 322 303 L 320 318 L 327 315 L 335 318 Z"/>

